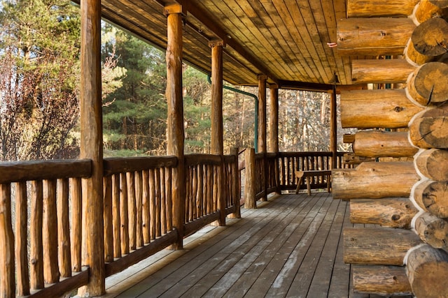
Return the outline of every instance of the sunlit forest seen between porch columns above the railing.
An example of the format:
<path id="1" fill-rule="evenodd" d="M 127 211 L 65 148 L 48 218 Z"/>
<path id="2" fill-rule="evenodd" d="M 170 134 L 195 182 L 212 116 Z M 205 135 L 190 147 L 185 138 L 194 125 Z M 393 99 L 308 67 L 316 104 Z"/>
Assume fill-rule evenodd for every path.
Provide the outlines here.
<path id="1" fill-rule="evenodd" d="M 79 8 L 67 0 L 0 5 L 0 160 L 76 158 Z M 105 156 L 165 154 L 165 78 L 164 52 L 102 23 Z M 258 95 L 256 87 L 232 87 Z M 210 84 L 187 64 L 183 100 L 186 153 L 209 153 Z M 225 89 L 223 117 L 225 151 L 253 147 L 254 99 Z M 329 121 L 329 94 L 279 90 L 280 151 L 328 151 Z"/>

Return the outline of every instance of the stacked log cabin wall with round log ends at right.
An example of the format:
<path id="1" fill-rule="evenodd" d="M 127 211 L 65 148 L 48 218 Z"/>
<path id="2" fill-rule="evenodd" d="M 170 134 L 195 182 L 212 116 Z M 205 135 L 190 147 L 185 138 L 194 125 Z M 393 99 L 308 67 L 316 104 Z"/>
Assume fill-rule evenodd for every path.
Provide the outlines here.
<path id="1" fill-rule="evenodd" d="M 381 225 L 344 231 L 353 289 L 446 297 L 448 1 L 349 0 L 347 15 L 337 24 L 339 54 L 394 57 L 353 60 L 353 84 L 405 84 L 341 92 L 342 127 L 368 129 L 351 135 L 348 158 L 414 160 L 332 172 L 333 197 L 350 200 L 351 222 Z M 385 131 L 395 128 L 405 131 Z"/>

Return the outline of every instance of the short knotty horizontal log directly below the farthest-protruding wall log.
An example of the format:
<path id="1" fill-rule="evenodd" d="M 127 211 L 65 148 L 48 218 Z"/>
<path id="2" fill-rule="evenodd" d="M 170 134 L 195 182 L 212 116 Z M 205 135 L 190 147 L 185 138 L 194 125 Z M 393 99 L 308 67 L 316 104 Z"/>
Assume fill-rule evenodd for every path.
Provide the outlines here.
<path id="1" fill-rule="evenodd" d="M 417 211 L 409 198 L 350 200 L 351 223 L 410 229 Z"/>

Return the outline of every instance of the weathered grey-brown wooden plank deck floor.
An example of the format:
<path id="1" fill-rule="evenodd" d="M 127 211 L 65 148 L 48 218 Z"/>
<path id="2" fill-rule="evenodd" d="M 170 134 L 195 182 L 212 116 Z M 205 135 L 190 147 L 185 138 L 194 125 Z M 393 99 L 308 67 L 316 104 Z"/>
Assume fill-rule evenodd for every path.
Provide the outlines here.
<path id="1" fill-rule="evenodd" d="M 377 297 L 353 294 L 343 262 L 347 202 L 281 195 L 106 280 L 106 297 Z"/>

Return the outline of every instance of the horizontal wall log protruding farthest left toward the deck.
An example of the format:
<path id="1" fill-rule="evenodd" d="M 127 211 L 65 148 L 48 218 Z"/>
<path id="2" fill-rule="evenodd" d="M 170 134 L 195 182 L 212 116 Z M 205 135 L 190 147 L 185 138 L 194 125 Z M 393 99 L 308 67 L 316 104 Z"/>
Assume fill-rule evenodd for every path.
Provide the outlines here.
<path id="1" fill-rule="evenodd" d="M 411 162 L 361 163 L 355 169 L 332 170 L 335 199 L 400 198 L 419 181 Z"/>

